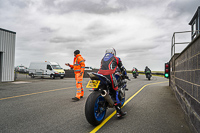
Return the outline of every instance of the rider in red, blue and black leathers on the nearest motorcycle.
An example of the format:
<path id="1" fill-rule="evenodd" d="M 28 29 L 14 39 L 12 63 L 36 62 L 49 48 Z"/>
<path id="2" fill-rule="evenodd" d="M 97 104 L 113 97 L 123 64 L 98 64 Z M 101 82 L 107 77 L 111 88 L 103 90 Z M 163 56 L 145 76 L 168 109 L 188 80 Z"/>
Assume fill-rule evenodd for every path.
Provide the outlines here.
<path id="1" fill-rule="evenodd" d="M 114 48 L 110 48 L 106 50 L 106 54 L 101 61 L 101 68 L 98 73 L 106 76 L 110 79 L 112 83 L 112 88 L 116 92 L 116 103 L 115 108 L 117 110 L 117 117 L 120 118 L 126 115 L 126 112 L 121 111 L 121 103 L 118 100 L 118 83 L 115 78 L 115 71 L 117 67 L 121 70 L 122 73 L 126 73 L 125 68 L 122 65 L 120 58 L 116 57 L 116 51 Z"/>

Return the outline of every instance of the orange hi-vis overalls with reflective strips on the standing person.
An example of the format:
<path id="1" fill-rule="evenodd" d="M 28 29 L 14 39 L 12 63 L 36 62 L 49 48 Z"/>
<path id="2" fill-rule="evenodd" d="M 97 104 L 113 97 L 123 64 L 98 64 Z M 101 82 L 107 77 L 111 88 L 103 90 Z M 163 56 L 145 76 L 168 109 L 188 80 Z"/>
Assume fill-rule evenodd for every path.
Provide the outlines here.
<path id="1" fill-rule="evenodd" d="M 70 67 L 74 69 L 76 88 L 77 88 L 76 97 L 80 99 L 80 97 L 83 97 L 84 95 L 82 81 L 85 70 L 85 60 L 80 54 L 77 54 L 76 57 L 74 57 L 74 65 L 70 65 Z M 81 76 L 80 73 L 82 73 Z"/>

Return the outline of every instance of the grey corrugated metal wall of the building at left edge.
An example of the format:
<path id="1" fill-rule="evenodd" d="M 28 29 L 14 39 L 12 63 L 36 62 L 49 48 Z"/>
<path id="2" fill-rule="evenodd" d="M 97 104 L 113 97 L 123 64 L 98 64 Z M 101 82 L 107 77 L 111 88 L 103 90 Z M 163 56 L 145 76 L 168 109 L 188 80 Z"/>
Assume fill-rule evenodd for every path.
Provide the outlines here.
<path id="1" fill-rule="evenodd" d="M 0 82 L 14 81 L 16 33 L 0 28 Z"/>

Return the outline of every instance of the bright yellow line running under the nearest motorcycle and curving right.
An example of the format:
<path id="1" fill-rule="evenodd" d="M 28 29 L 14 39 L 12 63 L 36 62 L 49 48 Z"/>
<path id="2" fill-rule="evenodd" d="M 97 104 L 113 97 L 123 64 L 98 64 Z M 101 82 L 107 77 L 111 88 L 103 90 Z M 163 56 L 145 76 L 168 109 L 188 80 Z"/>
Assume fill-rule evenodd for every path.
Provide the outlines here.
<path id="1" fill-rule="evenodd" d="M 122 106 L 122 108 L 129 102 L 131 101 L 138 93 L 140 93 L 146 86 L 148 85 L 153 85 L 153 84 L 161 84 L 161 83 L 165 83 L 165 82 L 169 82 L 169 81 L 164 81 L 164 82 L 157 82 L 157 83 L 150 83 L 150 84 L 146 84 L 144 85 L 141 89 L 139 89 L 133 96 L 131 96 L 128 100 L 126 100 L 126 102 L 124 103 L 124 105 Z M 96 133 L 103 125 L 106 124 L 106 122 L 108 122 L 114 115 L 116 114 L 116 111 L 114 111 L 111 115 L 109 115 L 100 125 L 98 125 L 97 127 L 95 127 L 90 133 Z"/>

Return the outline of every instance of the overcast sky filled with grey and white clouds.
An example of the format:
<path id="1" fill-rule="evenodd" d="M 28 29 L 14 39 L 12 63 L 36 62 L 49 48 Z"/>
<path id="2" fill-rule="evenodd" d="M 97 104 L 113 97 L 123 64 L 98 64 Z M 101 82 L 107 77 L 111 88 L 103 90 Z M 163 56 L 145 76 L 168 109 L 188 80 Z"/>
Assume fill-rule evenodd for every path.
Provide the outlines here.
<path id="1" fill-rule="evenodd" d="M 86 66 L 99 68 L 113 47 L 128 70 L 163 71 L 173 32 L 190 31 L 198 6 L 200 0 L 0 0 L 0 28 L 16 32 L 15 66 L 52 61 L 68 69 L 79 49 Z M 190 41 L 190 34 L 178 39 Z"/>

